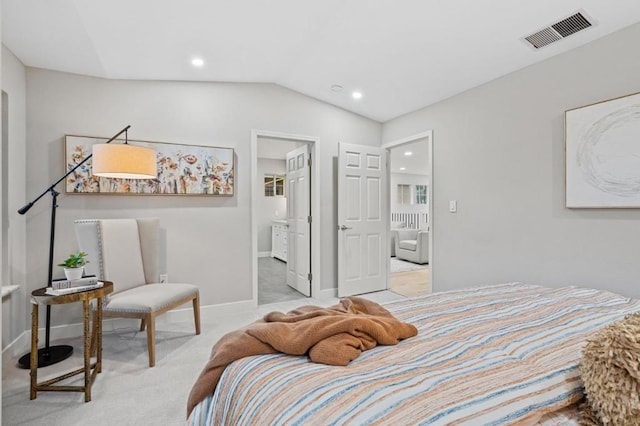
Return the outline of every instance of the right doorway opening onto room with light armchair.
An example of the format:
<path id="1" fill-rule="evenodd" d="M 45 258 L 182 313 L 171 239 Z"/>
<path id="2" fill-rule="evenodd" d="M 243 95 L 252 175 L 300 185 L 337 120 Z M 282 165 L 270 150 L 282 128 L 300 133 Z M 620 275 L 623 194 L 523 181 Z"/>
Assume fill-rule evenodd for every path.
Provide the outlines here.
<path id="1" fill-rule="evenodd" d="M 412 297 L 433 288 L 433 145 L 424 132 L 385 145 L 389 151 L 388 289 Z"/>

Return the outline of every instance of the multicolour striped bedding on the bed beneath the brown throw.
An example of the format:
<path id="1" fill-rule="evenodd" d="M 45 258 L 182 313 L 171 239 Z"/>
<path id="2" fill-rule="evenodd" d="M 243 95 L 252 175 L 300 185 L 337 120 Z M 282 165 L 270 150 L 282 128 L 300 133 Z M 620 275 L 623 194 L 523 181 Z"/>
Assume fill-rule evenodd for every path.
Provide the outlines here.
<path id="1" fill-rule="evenodd" d="M 582 398 L 585 338 L 640 310 L 601 290 L 501 284 L 383 304 L 418 336 L 347 367 L 260 355 L 229 365 L 192 425 L 532 424 Z"/>

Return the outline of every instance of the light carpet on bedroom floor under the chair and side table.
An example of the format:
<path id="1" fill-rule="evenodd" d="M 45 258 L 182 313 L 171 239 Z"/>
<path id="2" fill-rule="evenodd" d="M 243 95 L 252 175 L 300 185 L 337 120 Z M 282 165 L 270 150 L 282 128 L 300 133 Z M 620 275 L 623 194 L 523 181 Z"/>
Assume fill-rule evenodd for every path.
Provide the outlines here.
<path id="1" fill-rule="evenodd" d="M 398 299 L 389 291 L 363 295 L 376 302 Z M 224 334 L 271 311 L 290 311 L 303 304 L 331 306 L 337 299 L 288 301 L 221 316 L 201 312 L 202 334 L 193 321 L 169 323 L 160 317 L 156 330 L 156 366 L 149 368 L 146 333 L 137 327 L 114 330 L 105 321 L 103 367 L 92 387 L 92 401 L 79 392 L 39 392 L 29 400 L 29 371 L 5 354 L 2 362 L 3 425 L 184 425 L 187 396 L 213 344 Z M 38 370 L 38 381 L 82 366 L 82 338 L 52 344 L 74 347 L 71 358 Z M 22 354 L 19 354 L 22 355 Z M 63 384 L 78 385 L 82 375 Z"/>

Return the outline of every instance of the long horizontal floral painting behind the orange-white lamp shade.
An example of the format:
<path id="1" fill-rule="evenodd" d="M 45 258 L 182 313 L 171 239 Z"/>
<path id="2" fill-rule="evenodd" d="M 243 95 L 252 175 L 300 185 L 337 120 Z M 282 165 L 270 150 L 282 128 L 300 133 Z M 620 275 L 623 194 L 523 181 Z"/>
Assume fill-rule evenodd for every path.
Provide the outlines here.
<path id="1" fill-rule="evenodd" d="M 65 137 L 65 169 L 71 170 L 88 155 L 91 146 L 107 138 Z M 111 143 L 124 143 L 114 140 Z M 233 148 L 181 145 L 129 140 L 131 145 L 156 151 L 157 179 L 110 179 L 91 174 L 91 159 L 66 179 L 70 194 L 210 195 L 234 194 Z"/>

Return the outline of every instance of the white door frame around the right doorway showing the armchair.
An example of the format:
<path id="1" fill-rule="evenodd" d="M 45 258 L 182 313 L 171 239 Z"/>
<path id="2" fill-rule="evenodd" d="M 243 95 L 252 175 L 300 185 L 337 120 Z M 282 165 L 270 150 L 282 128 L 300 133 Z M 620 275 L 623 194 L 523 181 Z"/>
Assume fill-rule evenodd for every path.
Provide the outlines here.
<path id="1" fill-rule="evenodd" d="M 382 144 L 383 148 L 387 148 L 387 150 L 389 150 L 390 148 L 399 146 L 399 145 L 403 145 L 405 143 L 409 143 L 409 142 L 415 142 L 419 139 L 426 139 L 427 140 L 427 153 L 429 155 L 429 160 L 428 160 L 428 164 L 427 164 L 427 170 L 429 172 L 429 191 L 427 192 L 427 199 L 428 199 L 428 203 L 429 203 L 429 209 L 428 209 L 428 215 L 429 215 L 429 284 L 431 287 L 431 291 L 435 291 L 435 286 L 433 283 L 433 277 L 434 277 L 434 273 L 433 273 L 433 232 L 435 230 L 435 221 L 433 218 L 433 194 L 434 194 L 434 182 L 435 179 L 433 177 L 433 130 L 427 130 L 424 131 L 422 133 L 417 133 L 411 136 L 407 136 L 401 139 L 396 139 L 390 142 L 386 142 Z M 387 168 L 387 173 L 388 173 L 388 182 L 389 182 L 389 192 L 388 192 L 388 199 L 387 199 L 387 204 L 391 205 L 391 167 Z M 390 234 L 390 229 L 391 229 L 391 212 L 389 212 L 389 214 L 387 215 L 387 246 L 389 245 L 389 238 L 391 237 Z M 389 258 L 390 259 L 390 258 Z M 391 285 L 391 269 L 389 268 L 387 270 L 387 289 L 389 288 L 389 286 Z"/>

